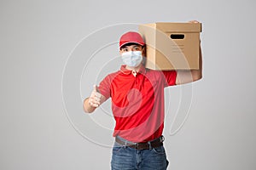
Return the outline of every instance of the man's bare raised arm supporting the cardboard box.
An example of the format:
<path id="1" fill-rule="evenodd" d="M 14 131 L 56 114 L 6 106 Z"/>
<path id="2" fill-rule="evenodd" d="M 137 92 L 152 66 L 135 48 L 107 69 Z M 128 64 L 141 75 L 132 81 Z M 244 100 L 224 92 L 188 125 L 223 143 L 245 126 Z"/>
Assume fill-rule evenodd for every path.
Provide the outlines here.
<path id="1" fill-rule="evenodd" d="M 199 70 L 177 71 L 176 84 L 195 82 L 202 77 L 202 54 L 201 46 L 199 50 Z"/>

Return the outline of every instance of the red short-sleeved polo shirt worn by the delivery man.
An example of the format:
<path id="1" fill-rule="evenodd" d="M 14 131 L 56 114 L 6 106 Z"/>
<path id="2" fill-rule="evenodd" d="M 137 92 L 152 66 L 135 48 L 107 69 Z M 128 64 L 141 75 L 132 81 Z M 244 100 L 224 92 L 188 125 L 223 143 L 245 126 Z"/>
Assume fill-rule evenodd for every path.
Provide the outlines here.
<path id="1" fill-rule="evenodd" d="M 113 136 L 132 142 L 159 138 L 164 128 L 164 88 L 175 85 L 176 77 L 176 71 L 153 71 L 143 66 L 135 75 L 125 65 L 105 77 L 99 90 L 112 99 Z"/>

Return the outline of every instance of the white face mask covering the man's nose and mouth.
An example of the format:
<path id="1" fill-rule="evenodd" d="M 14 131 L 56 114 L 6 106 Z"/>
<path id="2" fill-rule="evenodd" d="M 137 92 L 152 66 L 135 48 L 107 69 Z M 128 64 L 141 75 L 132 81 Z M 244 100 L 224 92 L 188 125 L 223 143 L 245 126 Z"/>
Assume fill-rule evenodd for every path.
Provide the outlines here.
<path id="1" fill-rule="evenodd" d="M 125 65 L 137 67 L 143 61 L 143 55 L 141 51 L 129 51 L 122 54 L 122 59 Z"/>

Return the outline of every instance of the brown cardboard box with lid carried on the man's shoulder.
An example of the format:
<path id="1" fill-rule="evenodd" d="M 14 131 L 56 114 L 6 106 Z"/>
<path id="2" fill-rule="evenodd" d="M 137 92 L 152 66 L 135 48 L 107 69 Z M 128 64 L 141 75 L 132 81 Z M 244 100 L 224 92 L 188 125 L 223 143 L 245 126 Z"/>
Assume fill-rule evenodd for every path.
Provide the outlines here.
<path id="1" fill-rule="evenodd" d="M 139 25 L 138 31 L 147 44 L 147 68 L 199 69 L 201 23 L 157 22 Z"/>

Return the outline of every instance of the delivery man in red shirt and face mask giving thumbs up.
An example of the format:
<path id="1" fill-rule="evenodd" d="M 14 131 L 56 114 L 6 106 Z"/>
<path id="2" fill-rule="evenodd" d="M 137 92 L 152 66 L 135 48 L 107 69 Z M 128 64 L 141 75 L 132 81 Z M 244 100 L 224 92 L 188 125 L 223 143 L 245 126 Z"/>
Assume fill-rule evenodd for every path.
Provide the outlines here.
<path id="1" fill-rule="evenodd" d="M 164 88 L 201 79 L 201 65 L 199 70 L 192 71 L 145 68 L 145 43 L 143 37 L 134 31 L 120 37 L 119 54 L 125 65 L 105 77 L 99 87 L 94 86 L 90 97 L 84 99 L 84 111 L 91 113 L 107 99 L 112 99 L 116 121 L 111 161 L 113 170 L 164 170 L 168 166 L 162 136 Z"/>

